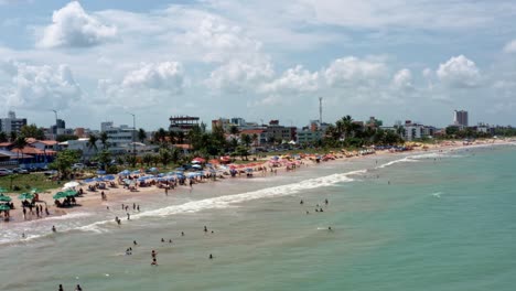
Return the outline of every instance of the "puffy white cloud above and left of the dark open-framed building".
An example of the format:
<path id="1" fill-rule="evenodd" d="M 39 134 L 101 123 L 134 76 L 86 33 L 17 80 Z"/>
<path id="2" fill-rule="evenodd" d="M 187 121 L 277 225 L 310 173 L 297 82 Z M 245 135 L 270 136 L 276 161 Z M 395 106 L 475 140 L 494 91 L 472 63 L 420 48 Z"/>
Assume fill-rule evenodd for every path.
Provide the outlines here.
<path id="1" fill-rule="evenodd" d="M 104 96 L 114 98 L 115 104 L 125 107 L 153 106 L 173 95 L 182 94 L 184 71 L 181 63 L 141 63 L 125 74 L 119 82 L 100 79 L 98 88 Z M 141 103 L 142 98 L 147 103 Z"/>

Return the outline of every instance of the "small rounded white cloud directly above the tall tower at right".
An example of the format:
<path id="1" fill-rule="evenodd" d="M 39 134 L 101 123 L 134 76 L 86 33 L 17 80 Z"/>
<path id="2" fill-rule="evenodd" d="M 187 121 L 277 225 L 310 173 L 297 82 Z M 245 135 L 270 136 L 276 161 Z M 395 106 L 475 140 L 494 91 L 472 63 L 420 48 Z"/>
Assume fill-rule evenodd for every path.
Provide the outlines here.
<path id="1" fill-rule="evenodd" d="M 453 56 L 447 63 L 440 64 L 437 76 L 445 85 L 455 88 L 476 87 L 481 80 L 481 73 L 475 63 L 464 55 Z"/>

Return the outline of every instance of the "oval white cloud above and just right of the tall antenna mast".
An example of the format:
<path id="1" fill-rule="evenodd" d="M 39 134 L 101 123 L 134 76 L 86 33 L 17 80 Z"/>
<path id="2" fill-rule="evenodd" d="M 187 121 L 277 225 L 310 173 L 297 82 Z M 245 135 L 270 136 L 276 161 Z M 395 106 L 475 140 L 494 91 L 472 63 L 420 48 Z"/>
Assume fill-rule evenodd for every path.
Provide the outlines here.
<path id="1" fill-rule="evenodd" d="M 386 73 L 383 62 L 347 56 L 333 61 L 323 74 L 330 86 L 345 87 L 373 84 Z"/>

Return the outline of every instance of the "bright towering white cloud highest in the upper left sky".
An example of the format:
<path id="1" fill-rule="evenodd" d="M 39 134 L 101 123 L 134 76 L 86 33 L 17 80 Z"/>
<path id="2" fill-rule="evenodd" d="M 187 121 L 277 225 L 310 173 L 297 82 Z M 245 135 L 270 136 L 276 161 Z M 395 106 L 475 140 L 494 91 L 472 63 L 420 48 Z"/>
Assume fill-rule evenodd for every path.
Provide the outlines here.
<path id="1" fill-rule="evenodd" d="M 54 11 L 52 24 L 44 28 L 40 47 L 86 47 L 112 40 L 117 28 L 87 14 L 79 2 L 73 1 Z"/>

